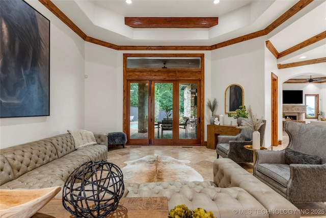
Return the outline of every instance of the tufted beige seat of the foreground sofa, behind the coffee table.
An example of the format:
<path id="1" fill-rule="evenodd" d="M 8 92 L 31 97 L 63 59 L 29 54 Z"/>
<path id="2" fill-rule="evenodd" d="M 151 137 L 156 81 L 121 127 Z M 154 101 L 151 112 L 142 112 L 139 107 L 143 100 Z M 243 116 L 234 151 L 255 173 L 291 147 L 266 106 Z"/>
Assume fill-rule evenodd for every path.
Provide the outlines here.
<path id="1" fill-rule="evenodd" d="M 242 188 L 220 188 L 208 181 L 128 183 L 125 192 L 126 197 L 164 196 L 168 198 L 169 210 L 176 205 L 185 204 L 189 209 L 201 207 L 212 211 L 216 217 L 233 217 L 233 210 L 240 211 L 244 208 L 248 211 L 265 209 Z M 226 214 L 229 216 L 225 216 Z M 268 214 L 259 217 L 268 217 Z"/>

